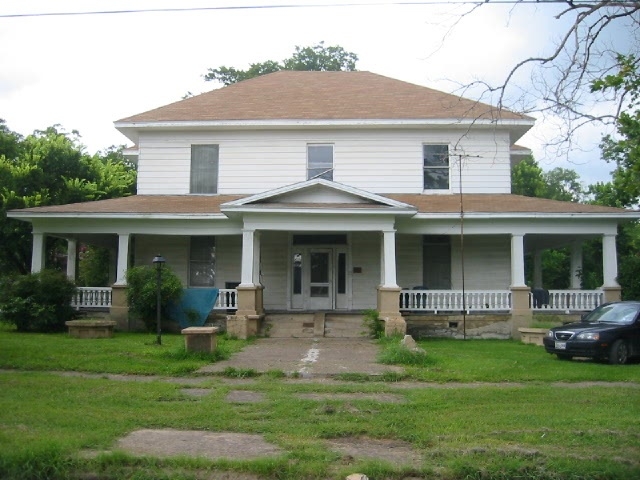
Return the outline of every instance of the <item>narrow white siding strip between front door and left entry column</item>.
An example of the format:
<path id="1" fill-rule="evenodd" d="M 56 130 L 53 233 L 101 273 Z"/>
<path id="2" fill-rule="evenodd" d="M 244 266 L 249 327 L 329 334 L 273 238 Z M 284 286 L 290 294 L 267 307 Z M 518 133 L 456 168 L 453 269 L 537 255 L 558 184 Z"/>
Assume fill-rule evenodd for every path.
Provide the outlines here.
<path id="1" fill-rule="evenodd" d="M 260 237 L 260 249 L 260 281 L 264 286 L 264 308 L 288 309 L 289 235 L 287 232 L 263 232 Z"/>

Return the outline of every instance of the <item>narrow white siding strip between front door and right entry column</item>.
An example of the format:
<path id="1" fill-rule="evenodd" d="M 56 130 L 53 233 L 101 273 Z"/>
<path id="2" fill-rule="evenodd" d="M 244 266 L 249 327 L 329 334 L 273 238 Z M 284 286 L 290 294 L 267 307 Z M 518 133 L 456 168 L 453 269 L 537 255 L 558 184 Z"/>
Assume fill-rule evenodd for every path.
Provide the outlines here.
<path id="1" fill-rule="evenodd" d="M 352 308 L 364 310 L 377 308 L 380 275 L 380 233 L 354 232 L 351 234 L 352 271 L 360 267 L 361 273 L 353 273 L 351 288 Z"/>

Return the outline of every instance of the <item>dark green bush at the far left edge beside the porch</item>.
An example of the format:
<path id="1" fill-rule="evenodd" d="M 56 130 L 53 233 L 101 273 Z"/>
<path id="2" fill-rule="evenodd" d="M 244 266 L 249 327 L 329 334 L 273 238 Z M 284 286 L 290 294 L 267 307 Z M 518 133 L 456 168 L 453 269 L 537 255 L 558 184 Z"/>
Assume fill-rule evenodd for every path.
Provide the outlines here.
<path id="1" fill-rule="evenodd" d="M 75 284 L 55 270 L 8 277 L 0 284 L 0 318 L 19 332 L 59 332 L 75 317 Z"/>

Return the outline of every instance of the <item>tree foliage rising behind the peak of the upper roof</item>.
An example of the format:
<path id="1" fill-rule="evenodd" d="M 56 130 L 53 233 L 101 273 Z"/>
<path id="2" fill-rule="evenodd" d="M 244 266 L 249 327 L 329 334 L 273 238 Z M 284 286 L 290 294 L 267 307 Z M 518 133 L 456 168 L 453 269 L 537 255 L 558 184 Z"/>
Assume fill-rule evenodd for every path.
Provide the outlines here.
<path id="1" fill-rule="evenodd" d="M 267 60 L 252 63 L 247 70 L 225 66 L 210 68 L 204 75 L 204 79 L 220 82 L 226 86 L 280 70 L 353 71 L 356 69 L 357 61 L 358 56 L 355 53 L 348 52 L 339 45 L 325 46 L 324 42 L 320 42 L 311 47 L 296 46 L 291 57 L 285 58 L 281 62 Z"/>

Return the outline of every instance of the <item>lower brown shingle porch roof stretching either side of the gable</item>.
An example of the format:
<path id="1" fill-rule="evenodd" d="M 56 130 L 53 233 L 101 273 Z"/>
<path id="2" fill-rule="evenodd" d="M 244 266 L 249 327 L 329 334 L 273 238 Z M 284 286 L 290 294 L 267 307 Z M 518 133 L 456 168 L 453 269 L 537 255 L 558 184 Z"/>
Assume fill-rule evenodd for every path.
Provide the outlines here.
<path id="1" fill-rule="evenodd" d="M 218 214 L 220 206 L 246 195 L 134 195 L 131 197 L 100 200 L 96 202 L 52 205 L 48 207 L 13 210 L 16 213 L 51 214 Z M 459 195 L 389 194 L 393 200 L 413 205 L 418 213 L 455 214 L 460 211 Z M 277 205 L 261 204 L 265 207 Z M 559 202 L 544 198 L 523 197 L 508 194 L 466 194 L 463 195 L 464 211 L 467 213 L 559 213 L 559 214 L 622 214 L 635 213 L 613 207 L 585 205 L 581 203 Z M 282 206 L 282 205 L 280 205 Z M 291 206 L 291 205 L 289 205 Z M 300 205 L 295 205 L 299 207 Z M 316 208 L 353 208 L 354 205 L 322 204 Z M 311 207 L 312 208 L 312 207 Z M 28 216 L 28 215 L 27 215 Z"/>

